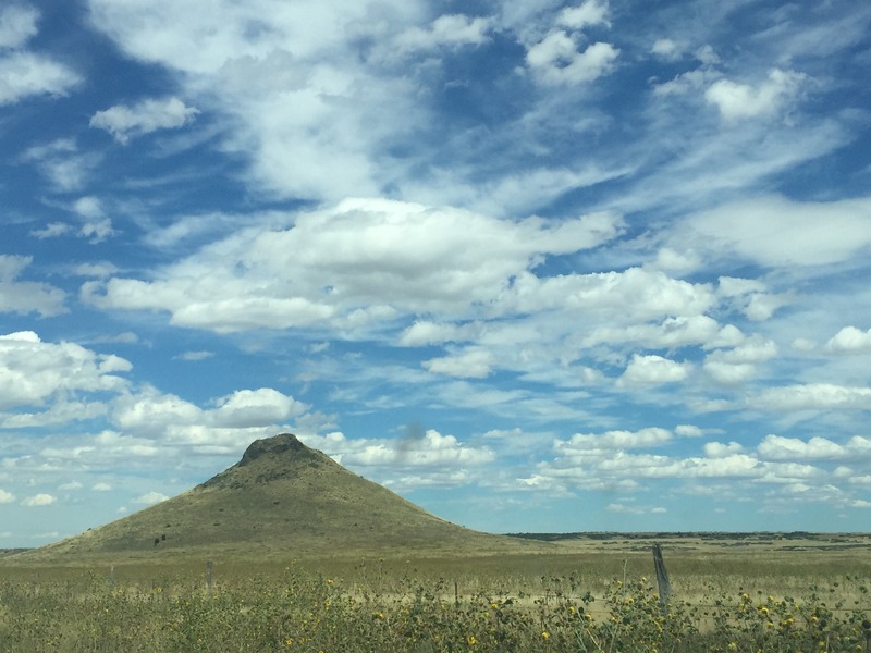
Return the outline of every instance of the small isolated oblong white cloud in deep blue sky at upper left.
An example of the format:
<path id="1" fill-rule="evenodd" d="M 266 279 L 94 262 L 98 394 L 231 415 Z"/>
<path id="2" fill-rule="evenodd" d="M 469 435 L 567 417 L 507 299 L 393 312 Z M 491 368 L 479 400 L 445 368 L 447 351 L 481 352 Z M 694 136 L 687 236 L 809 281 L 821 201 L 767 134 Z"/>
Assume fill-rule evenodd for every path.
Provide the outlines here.
<path id="1" fill-rule="evenodd" d="M 199 113 L 179 98 L 148 98 L 134 106 L 116 104 L 98 111 L 90 119 L 90 126 L 106 130 L 119 143 L 150 134 L 158 130 L 173 130 L 191 123 Z"/>

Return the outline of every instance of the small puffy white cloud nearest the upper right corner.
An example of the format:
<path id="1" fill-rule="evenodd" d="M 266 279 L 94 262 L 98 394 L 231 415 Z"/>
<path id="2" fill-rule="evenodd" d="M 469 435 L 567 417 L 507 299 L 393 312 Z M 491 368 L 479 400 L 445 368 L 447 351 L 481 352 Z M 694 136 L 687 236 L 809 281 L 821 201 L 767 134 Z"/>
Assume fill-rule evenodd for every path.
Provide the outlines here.
<path id="1" fill-rule="evenodd" d="M 708 88 L 704 98 L 716 106 L 727 121 L 771 115 L 798 94 L 806 79 L 801 73 L 774 69 L 769 72 L 768 79 L 756 87 L 719 79 Z"/>

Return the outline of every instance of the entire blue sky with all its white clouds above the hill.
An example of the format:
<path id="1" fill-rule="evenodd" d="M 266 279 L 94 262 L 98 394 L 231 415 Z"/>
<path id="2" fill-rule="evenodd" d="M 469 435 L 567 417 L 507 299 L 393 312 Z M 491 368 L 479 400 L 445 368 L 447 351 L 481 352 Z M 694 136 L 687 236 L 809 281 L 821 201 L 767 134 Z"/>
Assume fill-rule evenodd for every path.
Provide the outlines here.
<path id="1" fill-rule="evenodd" d="M 871 5 L 0 9 L 0 546 L 297 433 L 494 532 L 867 530 Z"/>

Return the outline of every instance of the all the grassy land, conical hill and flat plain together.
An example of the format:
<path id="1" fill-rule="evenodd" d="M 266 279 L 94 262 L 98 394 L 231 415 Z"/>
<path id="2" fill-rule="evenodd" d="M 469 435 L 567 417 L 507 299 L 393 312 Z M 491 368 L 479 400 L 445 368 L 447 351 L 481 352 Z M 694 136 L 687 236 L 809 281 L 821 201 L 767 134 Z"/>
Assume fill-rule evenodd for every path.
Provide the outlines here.
<path id="1" fill-rule="evenodd" d="M 282 434 L 0 556 L 0 653 L 869 653 L 869 581 L 868 534 L 470 531 Z"/>

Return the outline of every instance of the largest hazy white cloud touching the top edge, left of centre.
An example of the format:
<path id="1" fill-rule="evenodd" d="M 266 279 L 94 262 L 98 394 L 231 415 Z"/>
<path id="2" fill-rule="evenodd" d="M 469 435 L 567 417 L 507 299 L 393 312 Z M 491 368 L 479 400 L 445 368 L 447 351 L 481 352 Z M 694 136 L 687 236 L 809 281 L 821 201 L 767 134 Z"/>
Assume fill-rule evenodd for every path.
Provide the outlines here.
<path id="1" fill-rule="evenodd" d="M 359 47 L 421 25 L 426 12 L 417 3 L 89 7 L 94 25 L 127 56 L 177 74 L 204 111 L 233 126 L 222 133 L 222 147 L 249 161 L 258 189 L 319 200 L 377 195 L 407 164 L 389 152 L 392 144 L 428 124 L 418 81 L 385 74 Z M 450 38 L 451 22 L 437 21 L 430 38 Z M 467 28 L 469 38 L 481 25 L 473 20 Z"/>

